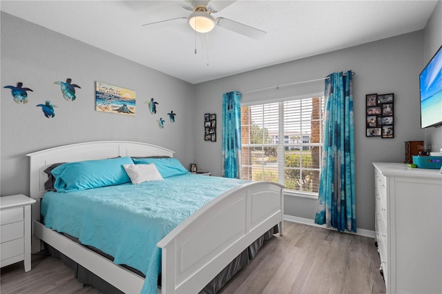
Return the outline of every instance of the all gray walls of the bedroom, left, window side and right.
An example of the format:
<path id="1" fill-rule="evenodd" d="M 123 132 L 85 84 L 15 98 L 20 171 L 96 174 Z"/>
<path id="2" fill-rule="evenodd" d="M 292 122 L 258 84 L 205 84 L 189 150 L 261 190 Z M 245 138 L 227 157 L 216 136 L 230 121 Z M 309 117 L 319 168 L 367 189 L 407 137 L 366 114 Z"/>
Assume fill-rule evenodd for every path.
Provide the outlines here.
<path id="1" fill-rule="evenodd" d="M 374 230 L 372 161 L 404 159 L 403 141 L 441 144 L 441 129 L 420 129 L 419 72 L 441 45 L 441 3 L 423 31 L 338 50 L 278 66 L 191 85 L 85 43 L 1 12 L 1 195 L 28 193 L 26 153 L 80 141 L 145 141 L 177 151 L 184 166 L 221 175 L 222 93 L 325 77 L 353 70 L 356 145 L 356 218 L 358 228 Z M 19 37 L 17 37 L 19 36 Z M 76 101 L 64 101 L 54 81 L 70 77 L 79 84 Z M 27 105 L 12 100 L 3 86 L 22 81 L 34 92 Z M 95 81 L 137 92 L 137 115 L 127 117 L 94 110 Z M 323 82 L 244 94 L 243 101 L 322 92 Z M 395 137 L 365 137 L 365 95 L 394 92 Z M 159 112 L 174 110 L 177 123 L 163 130 L 144 101 L 155 97 Z M 47 119 L 36 104 L 50 100 L 56 117 Z M 204 113 L 218 115 L 218 141 L 204 141 Z M 285 197 L 285 213 L 314 218 L 316 200 Z"/>

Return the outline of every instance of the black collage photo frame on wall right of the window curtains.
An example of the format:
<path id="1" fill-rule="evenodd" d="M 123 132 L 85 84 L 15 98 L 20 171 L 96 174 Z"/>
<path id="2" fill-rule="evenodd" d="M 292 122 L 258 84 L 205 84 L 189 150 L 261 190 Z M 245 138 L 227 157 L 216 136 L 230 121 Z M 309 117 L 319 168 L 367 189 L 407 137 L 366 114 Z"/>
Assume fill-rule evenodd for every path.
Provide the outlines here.
<path id="1" fill-rule="evenodd" d="M 365 137 L 394 138 L 394 93 L 365 95 Z"/>

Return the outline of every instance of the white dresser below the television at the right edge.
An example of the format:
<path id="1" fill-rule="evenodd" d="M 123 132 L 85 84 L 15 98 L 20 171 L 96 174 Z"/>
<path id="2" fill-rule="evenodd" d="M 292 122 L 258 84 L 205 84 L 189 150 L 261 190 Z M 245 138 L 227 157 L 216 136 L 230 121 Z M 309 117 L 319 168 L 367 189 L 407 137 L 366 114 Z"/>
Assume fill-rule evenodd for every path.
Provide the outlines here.
<path id="1" fill-rule="evenodd" d="M 373 165 L 387 293 L 442 293 L 442 175 L 406 164 Z"/>

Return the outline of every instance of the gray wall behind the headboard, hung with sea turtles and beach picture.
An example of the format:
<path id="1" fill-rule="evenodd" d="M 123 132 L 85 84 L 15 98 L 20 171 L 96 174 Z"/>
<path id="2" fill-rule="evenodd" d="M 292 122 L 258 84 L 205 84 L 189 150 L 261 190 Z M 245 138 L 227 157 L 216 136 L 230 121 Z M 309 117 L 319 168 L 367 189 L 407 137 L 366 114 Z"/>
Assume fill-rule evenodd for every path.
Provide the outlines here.
<path id="1" fill-rule="evenodd" d="M 54 81 L 81 86 L 75 101 Z M 16 104 L 6 85 L 31 88 L 29 103 Z M 136 91 L 135 117 L 95 111 L 95 81 Z M 29 193 L 27 153 L 82 141 L 143 141 L 175 150 L 184 166 L 193 158 L 193 85 L 117 57 L 57 32 L 1 12 L 1 195 Z M 154 97 L 157 115 L 146 100 Z M 37 104 L 50 100 L 55 117 Z M 171 124 L 167 112 L 177 113 Z M 160 130 L 156 120 L 166 119 Z"/>

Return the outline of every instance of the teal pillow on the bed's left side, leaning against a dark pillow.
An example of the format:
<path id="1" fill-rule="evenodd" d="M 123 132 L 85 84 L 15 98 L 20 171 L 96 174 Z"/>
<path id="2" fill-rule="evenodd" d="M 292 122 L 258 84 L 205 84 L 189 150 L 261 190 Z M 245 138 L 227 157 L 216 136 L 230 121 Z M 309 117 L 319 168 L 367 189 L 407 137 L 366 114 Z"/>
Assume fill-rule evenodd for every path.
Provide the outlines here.
<path id="1" fill-rule="evenodd" d="M 50 173 L 55 177 L 57 192 L 71 192 L 130 183 L 123 164 L 133 164 L 131 157 L 68 162 Z"/>

